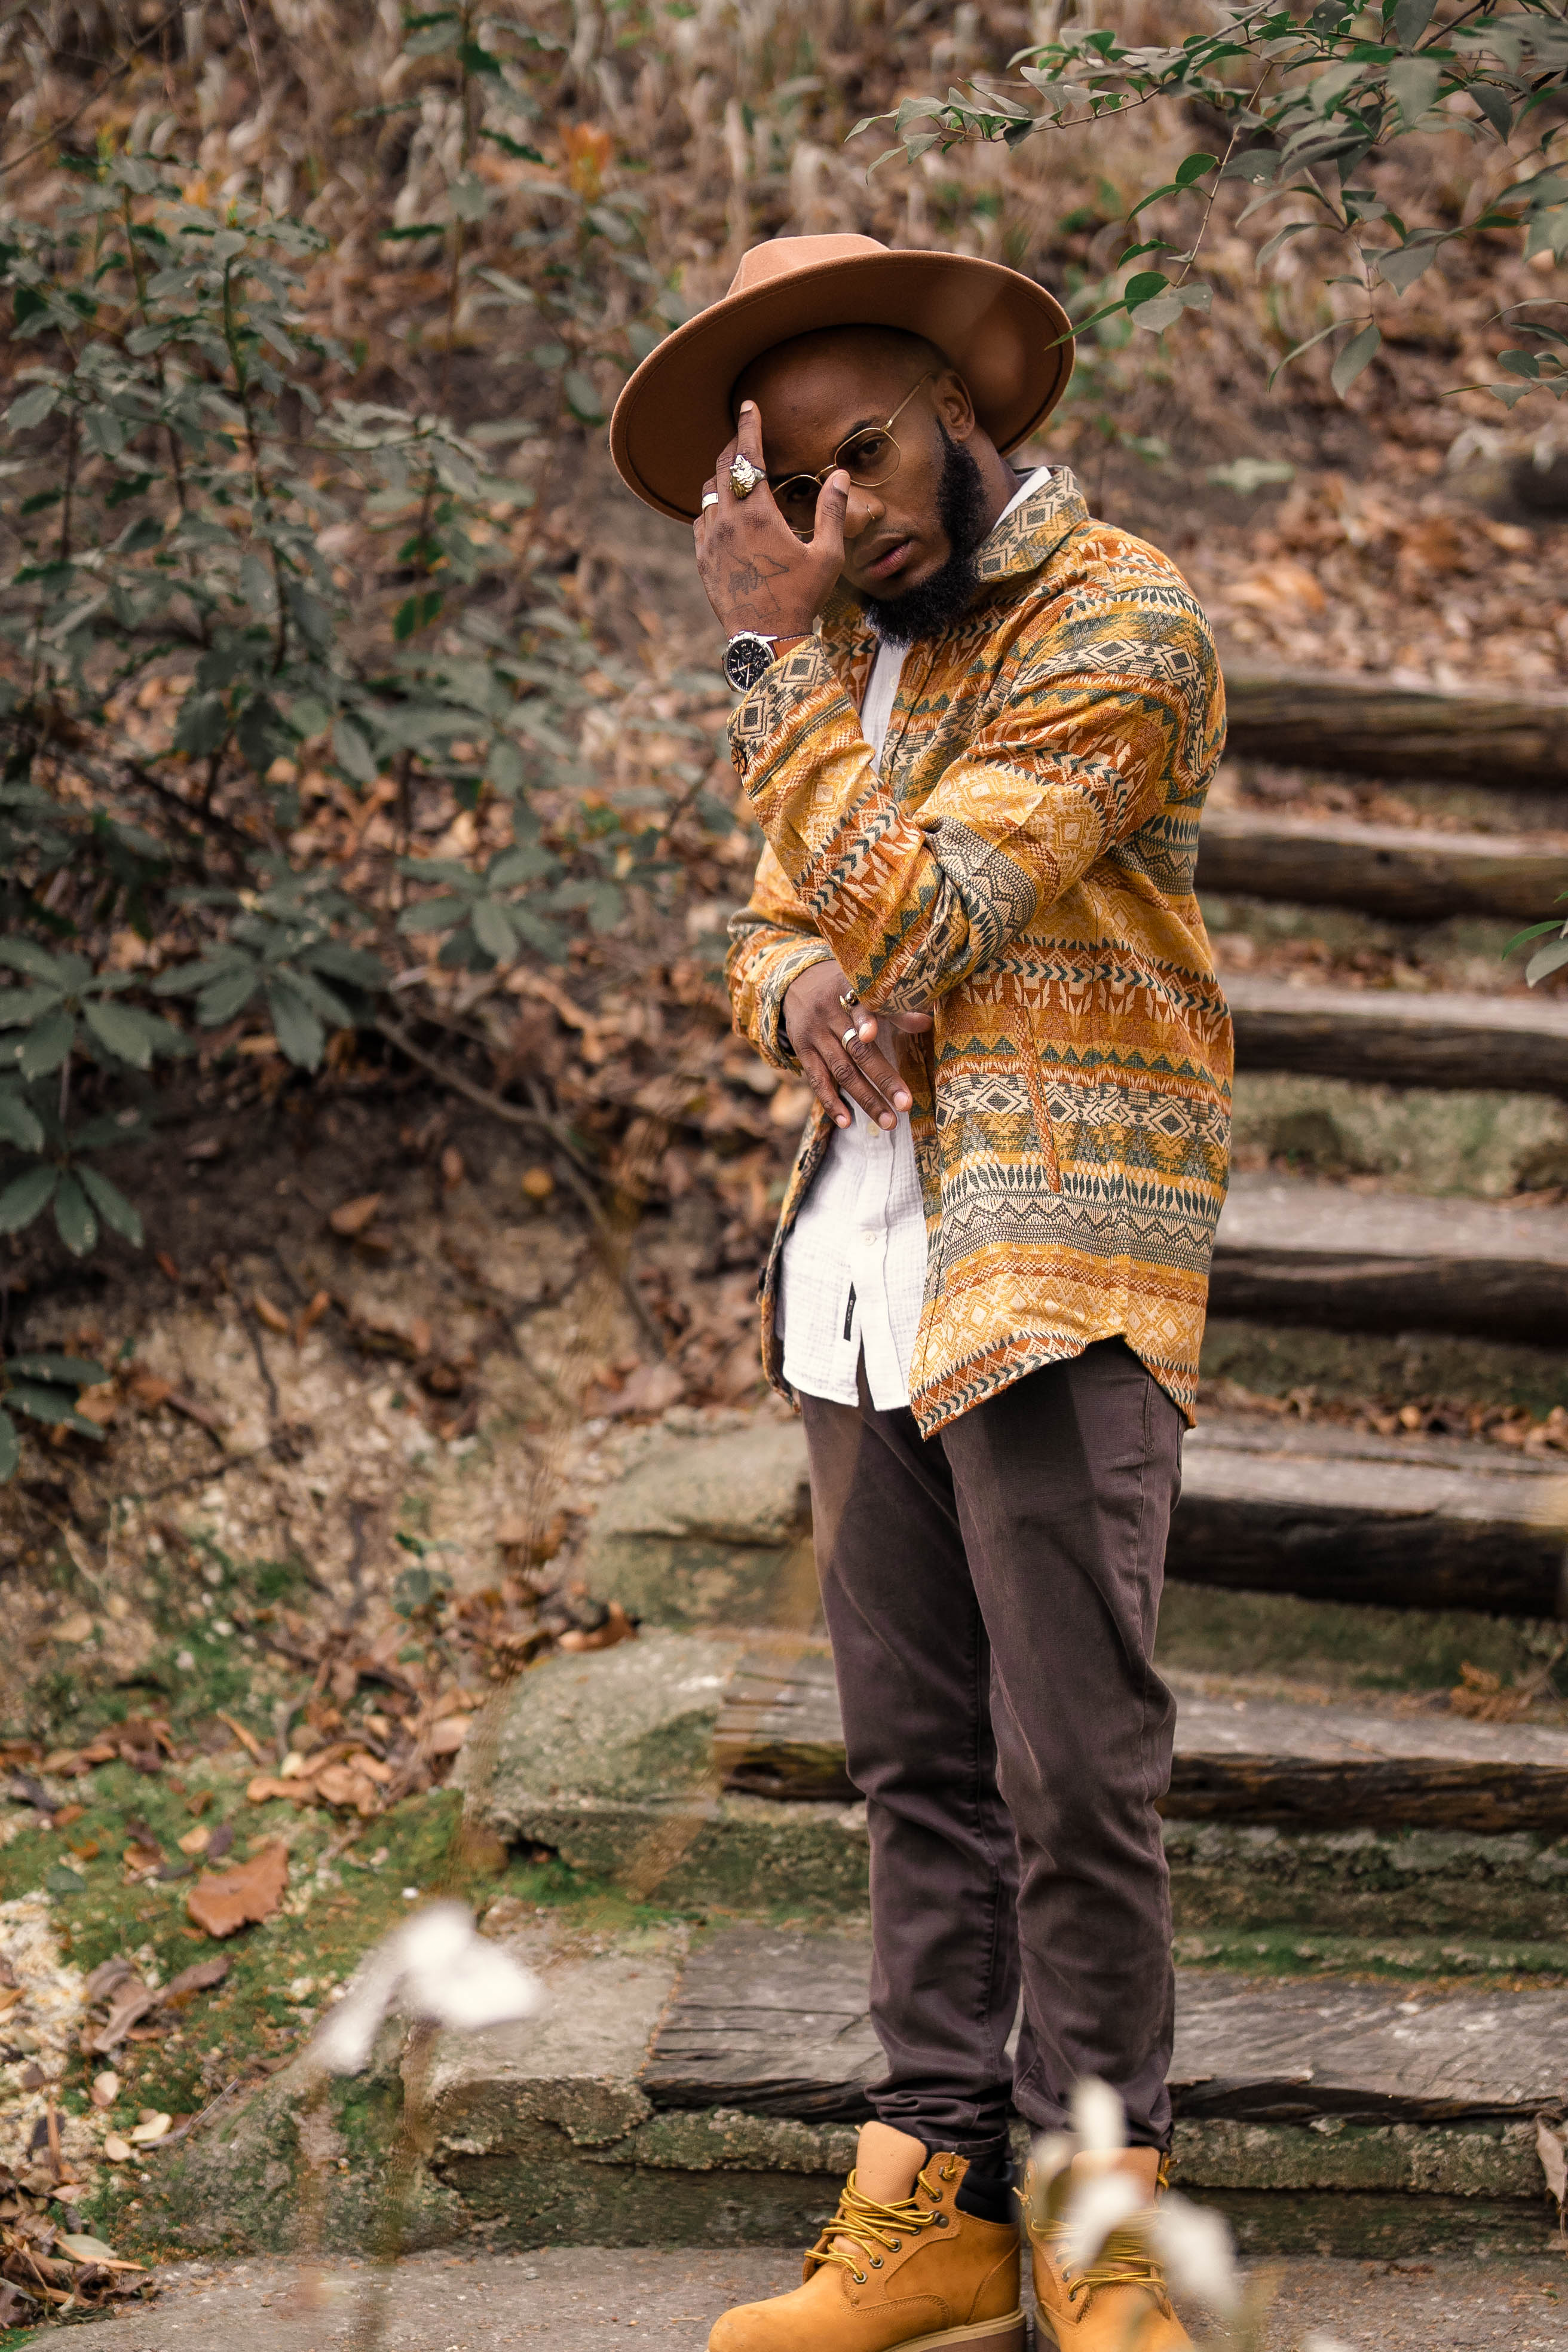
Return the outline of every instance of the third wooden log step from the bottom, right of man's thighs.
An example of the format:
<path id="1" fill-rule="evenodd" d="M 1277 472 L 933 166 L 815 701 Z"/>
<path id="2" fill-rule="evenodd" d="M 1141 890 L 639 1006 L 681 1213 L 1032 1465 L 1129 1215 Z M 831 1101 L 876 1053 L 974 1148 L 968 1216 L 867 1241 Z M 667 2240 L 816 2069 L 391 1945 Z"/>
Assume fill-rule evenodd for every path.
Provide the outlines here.
<path id="1" fill-rule="evenodd" d="M 1568 1616 L 1568 1472 L 1476 1439 L 1213 1416 L 1187 1437 L 1166 1573 L 1387 1609 Z"/>

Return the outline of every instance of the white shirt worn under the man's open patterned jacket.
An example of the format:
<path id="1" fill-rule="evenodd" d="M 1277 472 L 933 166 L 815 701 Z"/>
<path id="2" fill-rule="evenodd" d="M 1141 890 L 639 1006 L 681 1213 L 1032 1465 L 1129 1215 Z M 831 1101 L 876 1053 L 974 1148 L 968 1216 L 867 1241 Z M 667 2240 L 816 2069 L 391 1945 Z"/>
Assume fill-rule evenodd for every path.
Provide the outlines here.
<path id="1" fill-rule="evenodd" d="M 1048 473 L 1039 466 L 1001 513 L 1023 506 Z M 860 703 L 860 731 L 877 760 L 900 670 L 903 652 L 877 647 Z M 884 1033 L 882 1044 L 889 1042 Z M 806 1397 L 856 1404 L 856 1371 L 865 1357 L 865 1385 L 877 1411 L 886 1414 L 910 1402 L 910 1357 L 926 1291 L 926 1209 L 907 1112 L 889 1131 L 858 1103 L 849 1108 L 853 1127 L 835 1127 L 785 1242 L 778 1279 L 783 1369 L 790 1388 Z"/>

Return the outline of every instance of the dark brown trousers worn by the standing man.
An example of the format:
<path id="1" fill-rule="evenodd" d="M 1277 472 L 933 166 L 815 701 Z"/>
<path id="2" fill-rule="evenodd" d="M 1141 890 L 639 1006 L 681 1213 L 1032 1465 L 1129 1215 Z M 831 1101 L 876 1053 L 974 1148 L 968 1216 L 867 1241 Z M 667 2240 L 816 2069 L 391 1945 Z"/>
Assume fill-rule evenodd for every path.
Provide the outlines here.
<path id="1" fill-rule="evenodd" d="M 1046 1364 L 931 1439 L 802 1397 L 849 1776 L 872 1846 L 875 2112 L 980 2152 L 1009 2100 L 1121 2093 L 1171 2136 L 1171 1889 L 1154 1672 L 1182 1418 L 1126 1341 Z M 1018 2016 L 1018 2053 L 1006 2044 Z"/>

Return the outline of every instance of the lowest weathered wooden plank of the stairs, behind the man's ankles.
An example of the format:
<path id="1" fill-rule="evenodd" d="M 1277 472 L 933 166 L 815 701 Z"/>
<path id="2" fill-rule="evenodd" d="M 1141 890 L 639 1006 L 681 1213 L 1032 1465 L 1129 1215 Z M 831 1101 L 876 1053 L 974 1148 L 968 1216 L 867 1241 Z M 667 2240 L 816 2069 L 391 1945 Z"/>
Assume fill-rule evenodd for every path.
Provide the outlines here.
<path id="1" fill-rule="evenodd" d="M 701 1943 L 639 2077 L 654 2107 L 860 2122 L 884 2072 L 870 1950 L 757 1926 Z M 1418 1994 L 1178 1969 L 1182 2117 L 1521 2119 L 1568 2093 L 1568 1992 Z"/>

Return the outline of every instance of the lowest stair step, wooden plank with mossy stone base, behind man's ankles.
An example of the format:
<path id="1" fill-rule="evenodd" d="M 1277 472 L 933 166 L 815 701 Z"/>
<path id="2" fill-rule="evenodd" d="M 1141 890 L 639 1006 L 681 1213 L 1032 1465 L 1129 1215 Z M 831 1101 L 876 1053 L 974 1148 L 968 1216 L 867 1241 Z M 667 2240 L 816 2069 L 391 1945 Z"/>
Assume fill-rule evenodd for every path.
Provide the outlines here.
<path id="1" fill-rule="evenodd" d="M 724 1926 L 585 1938 L 524 1905 L 487 1931 L 541 2020 L 442 2034 L 322 2096 L 306 2060 L 143 2157 L 143 2232 L 188 2249 L 364 2244 L 402 2096 L 423 2246 L 809 2244 L 879 2072 L 860 1938 Z M 1178 1971 L 1173 2180 L 1248 2253 L 1544 2251 L 1535 2117 L 1568 2096 L 1568 1990 L 1429 1992 Z M 402 2072 L 402 2082 L 400 2082 Z M 301 2159 L 299 2114 L 315 2114 Z M 1027 2131 L 1016 2129 L 1023 2154 Z"/>

